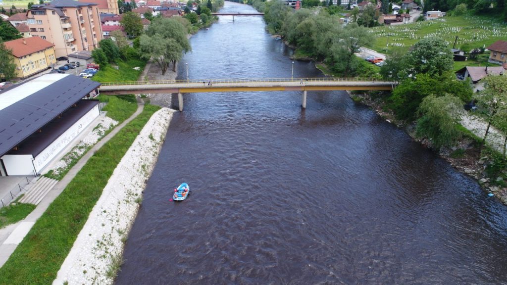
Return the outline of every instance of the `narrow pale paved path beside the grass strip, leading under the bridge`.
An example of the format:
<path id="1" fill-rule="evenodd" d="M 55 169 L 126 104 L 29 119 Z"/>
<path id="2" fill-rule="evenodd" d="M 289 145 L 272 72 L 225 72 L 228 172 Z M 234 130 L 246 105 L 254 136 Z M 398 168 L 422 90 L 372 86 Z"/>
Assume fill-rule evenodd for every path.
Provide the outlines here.
<path id="1" fill-rule="evenodd" d="M 149 66 L 147 65 L 147 70 Z M 144 72 L 143 72 L 144 73 Z M 143 76 L 143 75 L 141 75 Z M 74 165 L 68 173 L 63 177 L 61 181 L 59 181 L 53 189 L 44 197 L 44 199 L 39 203 L 39 205 L 22 221 L 7 226 L 3 229 L 0 229 L 0 267 L 4 266 L 7 262 L 11 254 L 16 250 L 18 244 L 23 240 L 23 238 L 28 234 L 31 227 L 37 220 L 42 216 L 42 214 L 46 211 L 49 205 L 60 195 L 60 193 L 67 187 L 67 185 L 74 179 L 76 174 L 83 168 L 83 166 L 88 162 L 90 157 L 99 150 L 107 141 L 109 141 L 113 136 L 115 136 L 126 124 L 132 121 L 137 115 L 139 115 L 144 109 L 144 101 L 142 99 L 137 98 L 137 111 L 135 111 L 130 118 L 125 120 L 123 123 L 114 128 L 110 133 L 104 136 L 101 140 L 97 142 L 92 149 L 90 149 L 79 161 L 76 165 Z"/>

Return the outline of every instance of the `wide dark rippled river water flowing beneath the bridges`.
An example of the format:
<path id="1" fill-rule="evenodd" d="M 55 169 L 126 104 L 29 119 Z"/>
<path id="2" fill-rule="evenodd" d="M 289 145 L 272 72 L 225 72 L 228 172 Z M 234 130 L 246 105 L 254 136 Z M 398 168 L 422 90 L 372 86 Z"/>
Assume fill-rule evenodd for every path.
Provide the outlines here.
<path id="1" fill-rule="evenodd" d="M 292 73 L 261 17 L 221 17 L 191 43 L 182 79 L 186 63 L 191 79 Z M 117 284 L 507 284 L 505 206 L 345 92 L 308 92 L 306 110 L 300 92 L 184 101 Z M 169 201 L 182 182 L 190 197 Z"/>

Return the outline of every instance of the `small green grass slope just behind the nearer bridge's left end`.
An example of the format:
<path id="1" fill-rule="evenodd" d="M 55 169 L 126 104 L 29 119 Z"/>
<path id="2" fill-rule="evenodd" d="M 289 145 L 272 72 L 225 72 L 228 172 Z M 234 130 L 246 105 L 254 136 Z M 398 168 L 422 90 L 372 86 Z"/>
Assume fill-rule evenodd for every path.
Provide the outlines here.
<path id="1" fill-rule="evenodd" d="M 118 69 L 113 67 L 112 64 L 107 64 L 107 66 L 100 68 L 91 79 L 97 82 L 137 81 L 146 65 L 146 60 L 118 60 L 117 65 Z M 139 70 L 134 69 L 136 66 L 139 67 Z"/>

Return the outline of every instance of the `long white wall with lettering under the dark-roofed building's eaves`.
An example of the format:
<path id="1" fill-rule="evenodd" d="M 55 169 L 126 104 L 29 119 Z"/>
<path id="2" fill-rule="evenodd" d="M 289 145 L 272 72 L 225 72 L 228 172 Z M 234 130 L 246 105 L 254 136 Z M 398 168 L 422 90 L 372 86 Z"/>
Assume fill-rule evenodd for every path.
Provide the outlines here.
<path id="1" fill-rule="evenodd" d="M 35 166 L 37 173 L 40 173 L 41 170 L 48 165 L 48 163 L 51 162 L 58 153 L 65 149 L 65 147 L 67 147 L 71 141 L 73 141 L 93 120 L 95 120 L 99 114 L 98 105 L 96 105 L 92 110 L 81 117 L 79 121 L 55 139 L 51 145 L 49 145 L 37 157 L 35 157 L 33 165 Z M 9 175 L 11 174 L 9 173 Z"/>

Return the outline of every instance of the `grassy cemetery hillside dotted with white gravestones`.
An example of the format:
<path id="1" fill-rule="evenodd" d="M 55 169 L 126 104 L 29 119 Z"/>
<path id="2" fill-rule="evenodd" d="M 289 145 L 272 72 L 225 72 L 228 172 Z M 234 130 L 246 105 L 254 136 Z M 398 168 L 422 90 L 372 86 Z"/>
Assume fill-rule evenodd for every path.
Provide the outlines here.
<path id="1" fill-rule="evenodd" d="M 497 40 L 507 38 L 507 25 L 499 17 L 466 15 L 449 16 L 436 20 L 415 22 L 406 25 L 379 26 L 371 28 L 376 41 L 369 47 L 382 53 L 389 53 L 392 47 L 410 47 L 424 37 L 438 37 L 449 46 L 470 49 L 488 46 Z"/>

